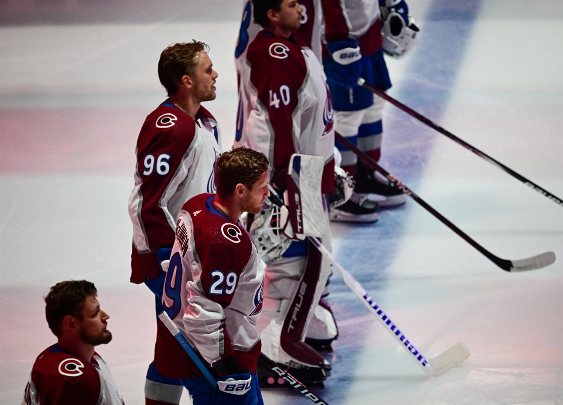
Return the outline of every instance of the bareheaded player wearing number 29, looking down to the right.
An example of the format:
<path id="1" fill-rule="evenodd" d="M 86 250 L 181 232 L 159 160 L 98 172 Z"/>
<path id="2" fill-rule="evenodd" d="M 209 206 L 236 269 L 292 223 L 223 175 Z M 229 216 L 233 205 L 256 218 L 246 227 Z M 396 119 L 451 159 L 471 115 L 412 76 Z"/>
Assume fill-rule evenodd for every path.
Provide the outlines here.
<path id="1" fill-rule="evenodd" d="M 164 282 L 163 306 L 217 381 L 215 392 L 162 322 L 154 364 L 181 379 L 194 405 L 263 404 L 256 377 L 265 265 L 239 217 L 258 213 L 270 195 L 264 154 L 239 148 L 216 164 L 217 195 L 187 201 Z M 240 389 L 239 389 L 240 388 Z M 244 395 L 243 395 L 244 394 Z"/>

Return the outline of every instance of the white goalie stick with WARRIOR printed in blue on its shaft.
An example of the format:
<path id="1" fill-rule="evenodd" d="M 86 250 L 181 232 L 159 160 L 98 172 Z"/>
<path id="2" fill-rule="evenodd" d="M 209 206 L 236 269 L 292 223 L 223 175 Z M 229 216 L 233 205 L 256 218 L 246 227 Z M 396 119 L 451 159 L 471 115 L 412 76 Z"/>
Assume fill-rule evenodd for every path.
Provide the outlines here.
<path id="1" fill-rule="evenodd" d="M 271 186 L 270 199 L 272 202 L 274 202 L 274 204 L 278 206 L 283 205 L 282 200 L 278 197 L 278 195 L 276 195 L 275 190 L 271 188 Z M 421 354 L 421 352 L 417 348 L 415 348 L 415 346 L 408 339 L 406 339 L 404 333 L 401 332 L 399 328 L 397 328 L 395 323 L 391 321 L 387 314 L 385 314 L 385 312 L 383 312 L 383 310 L 379 308 L 379 305 L 377 305 L 372 297 L 369 296 L 369 294 L 364 290 L 364 287 L 362 287 L 361 284 L 356 281 L 356 279 L 352 277 L 349 272 L 347 272 L 341 265 L 338 264 L 336 260 L 334 260 L 332 254 L 319 241 L 319 239 L 310 236 L 307 238 L 309 238 L 309 240 L 319 249 L 319 251 L 323 253 L 323 255 L 327 257 L 328 260 L 330 260 L 332 265 L 338 270 L 338 273 L 341 274 L 346 285 L 350 287 L 350 290 L 352 290 L 352 292 L 354 292 L 354 294 L 358 296 L 359 299 L 361 299 L 365 306 L 367 306 L 368 309 L 376 315 L 377 320 L 386 328 L 389 333 L 391 333 L 395 340 L 397 340 L 400 345 L 403 346 L 403 348 L 408 353 L 410 353 L 412 358 L 417 362 L 418 366 L 420 366 L 425 373 L 430 376 L 440 375 L 441 373 L 450 370 L 450 368 L 457 366 L 457 364 L 463 362 L 469 357 L 471 351 L 467 348 L 466 345 L 463 344 L 463 342 L 458 342 L 448 350 L 444 351 L 444 353 L 441 353 L 434 358 L 425 358 Z"/>

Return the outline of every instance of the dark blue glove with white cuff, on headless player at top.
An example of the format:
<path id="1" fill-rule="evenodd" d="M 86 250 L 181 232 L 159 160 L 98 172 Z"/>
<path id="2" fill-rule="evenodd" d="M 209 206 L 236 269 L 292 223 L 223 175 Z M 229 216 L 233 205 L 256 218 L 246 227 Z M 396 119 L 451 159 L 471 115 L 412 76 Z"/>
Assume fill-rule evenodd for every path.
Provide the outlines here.
<path id="1" fill-rule="evenodd" d="M 347 88 L 356 86 L 361 75 L 361 51 L 358 41 L 330 42 L 327 44 L 332 56 L 330 68 L 327 69 L 327 79 Z"/>

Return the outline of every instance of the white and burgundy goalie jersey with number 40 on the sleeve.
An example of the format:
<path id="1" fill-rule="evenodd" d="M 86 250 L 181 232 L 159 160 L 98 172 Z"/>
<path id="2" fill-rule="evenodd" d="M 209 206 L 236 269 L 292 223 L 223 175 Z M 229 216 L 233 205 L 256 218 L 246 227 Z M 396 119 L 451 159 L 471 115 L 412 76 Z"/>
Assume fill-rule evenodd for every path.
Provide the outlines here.
<path id="1" fill-rule="evenodd" d="M 325 160 L 321 191 L 334 187 L 334 128 L 327 79 L 319 60 L 300 37 L 262 30 L 248 46 L 239 88 L 235 148 L 264 153 L 270 182 L 286 189 L 293 153 Z"/>

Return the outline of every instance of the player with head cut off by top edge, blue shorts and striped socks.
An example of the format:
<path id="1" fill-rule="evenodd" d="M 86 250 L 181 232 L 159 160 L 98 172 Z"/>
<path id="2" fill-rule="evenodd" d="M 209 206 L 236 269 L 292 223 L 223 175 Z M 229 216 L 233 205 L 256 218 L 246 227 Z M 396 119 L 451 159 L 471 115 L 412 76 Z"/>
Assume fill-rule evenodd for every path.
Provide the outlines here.
<path id="1" fill-rule="evenodd" d="M 343 12 L 347 23 L 327 23 L 324 33 L 327 47 L 323 63 L 333 97 L 334 130 L 377 162 L 381 156 L 385 101 L 356 82 L 363 77 L 383 90 L 391 87 L 383 59 L 380 6 L 392 8 L 394 14 L 401 17 L 403 29 L 410 26 L 408 6 L 404 0 L 343 0 L 343 6 L 338 2 L 332 2 L 332 6 L 334 10 L 327 10 L 328 14 Z M 412 28 L 418 31 L 414 25 Z M 342 59 L 342 54 L 348 57 Z M 342 168 L 356 180 L 357 194 L 376 201 L 381 207 L 393 207 L 406 201 L 403 192 L 394 184 L 387 183 L 358 162 L 356 155 L 345 146 L 337 142 L 337 147 L 342 153 Z M 344 212 L 339 208 L 331 212 L 332 220 L 350 221 L 355 213 L 359 213 Z"/>

